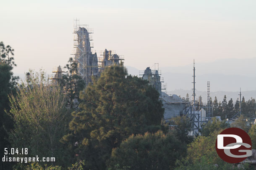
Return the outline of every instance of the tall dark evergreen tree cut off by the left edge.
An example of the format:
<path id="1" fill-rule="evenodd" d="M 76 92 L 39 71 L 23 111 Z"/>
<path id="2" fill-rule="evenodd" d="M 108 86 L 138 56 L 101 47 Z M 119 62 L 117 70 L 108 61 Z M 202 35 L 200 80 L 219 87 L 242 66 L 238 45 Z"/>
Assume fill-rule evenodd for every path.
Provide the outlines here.
<path id="1" fill-rule="evenodd" d="M 15 95 L 18 80 L 18 77 L 13 76 L 13 66 L 16 66 L 13 51 L 9 45 L 5 47 L 0 42 L 0 157 L 4 155 L 4 148 L 10 148 L 6 130 L 13 128 L 13 122 L 5 112 L 10 110 L 8 95 Z M 10 162 L 0 161 L 0 169 L 10 169 Z"/>

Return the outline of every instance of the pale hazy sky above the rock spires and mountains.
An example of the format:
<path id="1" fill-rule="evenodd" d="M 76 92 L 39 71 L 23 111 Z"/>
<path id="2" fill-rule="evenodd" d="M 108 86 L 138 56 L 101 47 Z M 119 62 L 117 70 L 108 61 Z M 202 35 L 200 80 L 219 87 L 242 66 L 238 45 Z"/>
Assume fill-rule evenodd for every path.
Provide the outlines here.
<path id="1" fill-rule="evenodd" d="M 256 55 L 255 0 L 1 0 L 0 41 L 15 73 L 67 63 L 73 19 L 94 29 L 94 50 L 114 50 L 143 70 Z"/>

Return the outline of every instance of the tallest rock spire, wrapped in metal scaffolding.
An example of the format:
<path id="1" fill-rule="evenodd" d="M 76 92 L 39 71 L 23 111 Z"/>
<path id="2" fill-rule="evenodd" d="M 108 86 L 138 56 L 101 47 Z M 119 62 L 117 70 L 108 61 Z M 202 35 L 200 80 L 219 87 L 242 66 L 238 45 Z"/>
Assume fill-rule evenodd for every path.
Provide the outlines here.
<path id="1" fill-rule="evenodd" d="M 91 33 L 93 30 L 88 25 L 80 25 L 79 20 L 74 20 L 74 61 L 86 86 L 92 81 L 91 76 L 98 76 L 99 72 L 97 53 L 91 52 Z"/>

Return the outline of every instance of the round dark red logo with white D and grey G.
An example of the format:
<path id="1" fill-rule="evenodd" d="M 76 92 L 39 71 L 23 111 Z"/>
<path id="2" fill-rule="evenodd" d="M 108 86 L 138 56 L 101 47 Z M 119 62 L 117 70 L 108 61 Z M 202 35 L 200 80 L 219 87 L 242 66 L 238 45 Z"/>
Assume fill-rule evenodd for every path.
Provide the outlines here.
<path id="1" fill-rule="evenodd" d="M 229 163 L 239 163 L 252 155 L 251 138 L 242 129 L 231 127 L 217 136 L 215 143 L 219 157 Z"/>

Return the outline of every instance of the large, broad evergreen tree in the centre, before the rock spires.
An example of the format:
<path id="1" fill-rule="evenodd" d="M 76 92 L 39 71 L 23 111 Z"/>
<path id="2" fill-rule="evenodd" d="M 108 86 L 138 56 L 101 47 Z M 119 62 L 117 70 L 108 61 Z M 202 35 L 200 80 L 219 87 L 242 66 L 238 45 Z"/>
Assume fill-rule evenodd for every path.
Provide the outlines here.
<path id="1" fill-rule="evenodd" d="M 159 93 L 148 81 L 128 76 L 123 66 L 104 69 L 94 84 L 81 92 L 78 112 L 63 137 L 85 169 L 106 168 L 112 149 L 131 134 L 156 132 L 164 114 Z M 76 146 L 74 146 L 74 144 Z"/>

